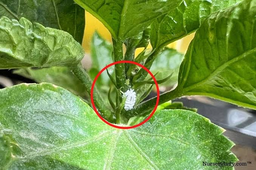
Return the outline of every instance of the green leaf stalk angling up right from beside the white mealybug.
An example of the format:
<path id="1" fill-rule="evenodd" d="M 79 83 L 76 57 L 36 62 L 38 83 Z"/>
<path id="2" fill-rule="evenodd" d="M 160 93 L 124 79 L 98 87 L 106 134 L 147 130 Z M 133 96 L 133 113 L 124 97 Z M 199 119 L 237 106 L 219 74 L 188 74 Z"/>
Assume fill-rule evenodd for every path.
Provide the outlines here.
<path id="1" fill-rule="evenodd" d="M 160 95 L 158 105 L 161 105 L 162 103 L 168 102 L 169 100 L 173 100 L 181 96 L 182 94 L 180 93 L 180 90 L 178 90 L 177 88 L 173 91 L 168 91 Z M 151 111 L 153 111 L 153 108 L 156 105 L 156 99 L 157 97 L 153 97 L 145 102 L 140 103 L 131 112 L 126 112 L 126 117 L 131 118 L 134 116 L 144 115 L 147 113 L 149 114 Z"/>

